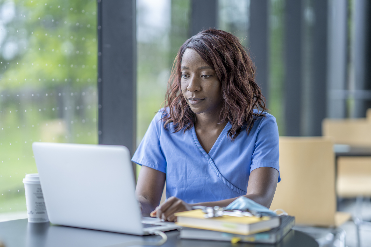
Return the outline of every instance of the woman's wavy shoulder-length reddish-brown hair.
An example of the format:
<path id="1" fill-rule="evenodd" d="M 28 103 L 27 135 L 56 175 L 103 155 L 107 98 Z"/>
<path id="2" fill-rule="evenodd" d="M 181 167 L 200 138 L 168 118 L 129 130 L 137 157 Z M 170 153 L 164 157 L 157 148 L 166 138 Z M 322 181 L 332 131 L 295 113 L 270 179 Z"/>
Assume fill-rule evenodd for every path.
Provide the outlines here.
<path id="1" fill-rule="evenodd" d="M 193 127 L 195 114 L 181 92 L 181 60 L 186 49 L 195 50 L 211 66 L 221 83 L 219 124 L 229 121 L 232 127 L 228 136 L 234 140 L 246 127 L 249 134 L 254 121 L 263 117 L 266 109 L 262 90 L 255 82 L 256 67 L 239 39 L 233 34 L 217 29 L 207 29 L 191 37 L 180 47 L 175 57 L 163 110 L 164 128 L 173 123 L 174 132 Z M 169 109 L 168 111 L 166 109 Z M 253 112 L 253 109 L 262 111 Z"/>

